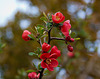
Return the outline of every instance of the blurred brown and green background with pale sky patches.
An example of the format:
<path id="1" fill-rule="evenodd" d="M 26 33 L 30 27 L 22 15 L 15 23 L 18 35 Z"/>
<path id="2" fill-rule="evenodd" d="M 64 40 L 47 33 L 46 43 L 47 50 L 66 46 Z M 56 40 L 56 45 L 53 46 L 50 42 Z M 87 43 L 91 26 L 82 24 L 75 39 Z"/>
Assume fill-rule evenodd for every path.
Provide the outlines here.
<path id="1" fill-rule="evenodd" d="M 22 32 L 32 32 L 31 28 L 43 24 L 42 12 L 57 11 L 71 21 L 71 30 L 81 39 L 72 44 L 73 59 L 68 59 L 64 42 L 51 42 L 62 51 L 62 67 L 47 71 L 43 79 L 100 79 L 100 0 L 0 0 L 0 45 L 6 44 L 0 48 L 0 79 L 28 79 L 26 70 L 34 69 L 32 63 L 39 62 L 28 52 L 40 45 L 25 42 Z M 52 36 L 58 35 L 54 30 Z"/>

